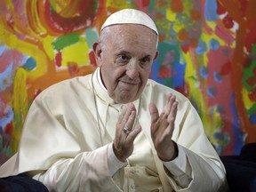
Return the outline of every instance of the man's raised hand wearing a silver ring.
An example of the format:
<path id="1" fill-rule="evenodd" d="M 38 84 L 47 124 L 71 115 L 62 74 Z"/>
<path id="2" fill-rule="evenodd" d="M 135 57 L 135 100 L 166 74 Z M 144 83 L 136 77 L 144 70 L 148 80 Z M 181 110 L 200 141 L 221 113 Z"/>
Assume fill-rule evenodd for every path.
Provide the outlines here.
<path id="1" fill-rule="evenodd" d="M 132 103 L 124 106 L 116 124 L 116 137 L 113 143 L 113 150 L 116 157 L 125 162 L 126 158 L 132 155 L 133 141 L 141 131 L 141 127 L 132 130 L 136 117 L 136 108 Z M 128 130 L 124 133 L 124 127 Z"/>

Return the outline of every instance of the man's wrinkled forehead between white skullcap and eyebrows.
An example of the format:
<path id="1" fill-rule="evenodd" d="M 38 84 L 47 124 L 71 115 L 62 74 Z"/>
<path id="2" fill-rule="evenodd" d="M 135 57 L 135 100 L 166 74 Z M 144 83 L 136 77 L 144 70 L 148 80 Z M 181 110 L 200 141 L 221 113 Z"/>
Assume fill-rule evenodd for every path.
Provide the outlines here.
<path id="1" fill-rule="evenodd" d="M 151 28 L 138 24 L 108 27 L 107 42 L 116 50 L 127 52 L 156 52 L 157 36 Z"/>

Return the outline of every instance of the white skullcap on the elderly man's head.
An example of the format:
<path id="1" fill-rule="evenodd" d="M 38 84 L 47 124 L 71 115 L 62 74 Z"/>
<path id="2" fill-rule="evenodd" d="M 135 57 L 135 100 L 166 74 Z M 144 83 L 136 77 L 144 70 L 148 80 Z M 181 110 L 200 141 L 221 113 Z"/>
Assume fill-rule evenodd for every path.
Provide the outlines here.
<path id="1" fill-rule="evenodd" d="M 145 12 L 134 9 L 124 9 L 111 14 L 102 25 L 100 31 L 111 25 L 116 24 L 139 24 L 151 28 L 158 35 L 155 22 Z"/>

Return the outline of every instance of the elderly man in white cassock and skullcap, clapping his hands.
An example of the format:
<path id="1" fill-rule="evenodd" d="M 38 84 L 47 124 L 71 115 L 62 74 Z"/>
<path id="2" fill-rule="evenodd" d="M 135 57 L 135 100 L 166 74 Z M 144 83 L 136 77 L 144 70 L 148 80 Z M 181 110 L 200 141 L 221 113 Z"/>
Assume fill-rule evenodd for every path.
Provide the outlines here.
<path id="1" fill-rule="evenodd" d="M 50 191 L 224 191 L 195 108 L 148 79 L 157 43 L 146 13 L 110 15 L 93 44 L 99 68 L 40 93 L 1 176 L 26 172 Z"/>

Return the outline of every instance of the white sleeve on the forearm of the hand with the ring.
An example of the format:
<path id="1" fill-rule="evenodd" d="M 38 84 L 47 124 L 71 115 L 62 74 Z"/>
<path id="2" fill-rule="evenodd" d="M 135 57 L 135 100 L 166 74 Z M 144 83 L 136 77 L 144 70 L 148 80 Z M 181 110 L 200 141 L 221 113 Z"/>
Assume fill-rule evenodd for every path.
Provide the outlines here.
<path id="1" fill-rule="evenodd" d="M 60 159 L 33 178 L 49 191 L 122 191 L 108 171 L 108 145 L 75 158 Z"/>

